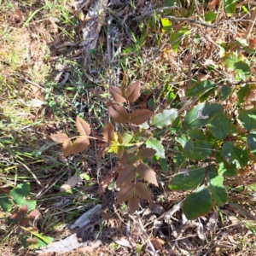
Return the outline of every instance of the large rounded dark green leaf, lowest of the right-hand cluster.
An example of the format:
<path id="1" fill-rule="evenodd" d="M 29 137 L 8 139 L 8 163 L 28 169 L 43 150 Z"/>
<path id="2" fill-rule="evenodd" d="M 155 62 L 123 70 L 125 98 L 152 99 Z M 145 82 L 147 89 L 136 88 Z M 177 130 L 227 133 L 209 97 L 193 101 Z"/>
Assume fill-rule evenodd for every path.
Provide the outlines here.
<path id="1" fill-rule="evenodd" d="M 212 198 L 205 185 L 190 194 L 183 202 L 183 212 L 188 219 L 198 218 L 212 209 Z"/>

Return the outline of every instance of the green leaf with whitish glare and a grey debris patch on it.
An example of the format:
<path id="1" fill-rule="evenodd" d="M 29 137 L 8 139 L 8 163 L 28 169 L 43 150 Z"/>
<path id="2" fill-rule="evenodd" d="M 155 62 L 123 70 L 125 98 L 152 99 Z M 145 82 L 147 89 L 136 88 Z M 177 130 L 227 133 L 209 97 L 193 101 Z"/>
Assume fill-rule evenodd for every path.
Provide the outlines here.
<path id="1" fill-rule="evenodd" d="M 221 112 L 222 106 L 219 104 L 200 103 L 186 114 L 183 126 L 188 130 L 200 128 L 207 125 L 215 115 Z"/>

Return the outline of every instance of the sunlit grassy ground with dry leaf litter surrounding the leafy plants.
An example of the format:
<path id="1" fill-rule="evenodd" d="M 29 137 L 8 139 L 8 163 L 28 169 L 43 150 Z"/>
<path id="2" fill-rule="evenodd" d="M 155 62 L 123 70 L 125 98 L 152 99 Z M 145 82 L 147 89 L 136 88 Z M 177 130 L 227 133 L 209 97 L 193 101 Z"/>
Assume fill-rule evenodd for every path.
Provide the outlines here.
<path id="1" fill-rule="evenodd" d="M 1 194 L 8 194 L 18 183 L 31 183 L 30 197 L 37 200 L 41 213 L 35 225 L 55 241 L 72 234 L 68 224 L 101 204 L 102 211 L 91 224 L 77 230 L 79 241 L 89 240 L 90 244 L 73 255 L 253 255 L 255 190 L 250 184 L 255 183 L 254 166 L 241 173 L 244 175 L 226 180 L 230 186 L 228 204 L 188 223 L 178 207 L 167 218 L 168 211 L 186 195 L 167 187 L 179 171 L 172 152 L 166 154 L 166 171 L 160 163 L 152 164 L 161 183 L 159 189 L 150 187 L 154 203 L 142 201 L 142 211 L 131 215 L 125 204 L 116 205 L 111 183 L 115 174 L 109 170 L 118 163 L 117 157 L 108 155 L 96 160 L 96 144 L 92 144 L 83 154 L 66 159 L 61 147 L 49 138 L 56 132 L 75 135 L 77 115 L 88 120 L 94 131 L 101 132 L 109 120 L 105 103 L 110 85 L 140 80 L 143 91 L 137 108 L 148 107 L 156 112 L 172 106 L 181 113 L 195 104 L 194 98 L 184 96 L 191 79 L 229 81 L 234 88 L 239 85 L 232 81 L 230 72 L 219 67 L 221 49 L 217 41 L 229 49 L 241 47 L 236 39 L 248 32 L 246 14 L 239 8 L 232 17 L 219 12 L 215 20 L 218 29 L 189 20 L 172 20 L 177 32 L 184 25 L 189 30 L 175 52 L 165 31 L 168 27 L 158 17 L 166 14 L 160 9 L 162 4 L 108 1 L 100 18 L 88 18 L 87 4 L 79 10 L 79 6 L 66 1 L 2 3 Z M 158 9 L 156 14 L 153 9 Z M 195 19 L 204 9 L 197 3 L 189 14 L 189 6 L 181 3 L 176 13 L 166 15 Z M 84 27 L 91 32 L 90 37 L 98 35 L 90 44 L 84 40 Z M 253 44 L 252 49 L 254 37 L 255 27 L 247 38 L 251 39 L 248 42 Z M 243 49 L 240 52 L 249 56 L 251 67 L 255 67 L 254 53 L 249 55 Z M 248 82 L 254 86 L 255 69 L 251 72 Z M 243 106 L 251 108 L 254 93 L 251 90 Z M 224 105 L 230 115 L 236 93 L 232 97 Z M 215 100 L 213 96 L 208 98 L 208 102 Z M 72 190 L 61 191 L 61 185 L 78 173 L 82 180 Z M 21 248 L 19 233 L 18 227 L 1 219 L 4 255 L 37 254 Z M 101 245 L 94 248 L 97 240 Z"/>

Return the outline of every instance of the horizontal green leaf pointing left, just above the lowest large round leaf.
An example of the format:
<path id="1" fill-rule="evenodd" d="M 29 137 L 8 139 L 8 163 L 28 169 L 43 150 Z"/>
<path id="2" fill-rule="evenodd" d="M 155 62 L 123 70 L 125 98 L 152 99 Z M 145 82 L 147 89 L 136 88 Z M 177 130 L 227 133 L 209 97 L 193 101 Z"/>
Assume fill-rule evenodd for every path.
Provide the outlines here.
<path id="1" fill-rule="evenodd" d="M 203 183 L 205 170 L 202 168 L 190 168 L 187 172 L 177 174 L 172 178 L 168 188 L 172 190 L 195 189 Z"/>

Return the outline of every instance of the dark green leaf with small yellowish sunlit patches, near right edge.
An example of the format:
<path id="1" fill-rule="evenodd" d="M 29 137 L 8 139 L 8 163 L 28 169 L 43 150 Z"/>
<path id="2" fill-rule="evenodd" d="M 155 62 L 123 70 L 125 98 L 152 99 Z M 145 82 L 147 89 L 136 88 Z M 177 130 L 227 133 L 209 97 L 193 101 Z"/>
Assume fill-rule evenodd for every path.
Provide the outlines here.
<path id="1" fill-rule="evenodd" d="M 234 142 L 224 142 L 223 153 L 228 162 L 236 163 L 237 168 L 247 166 L 247 162 L 249 160 L 247 149 L 236 148 Z"/>

